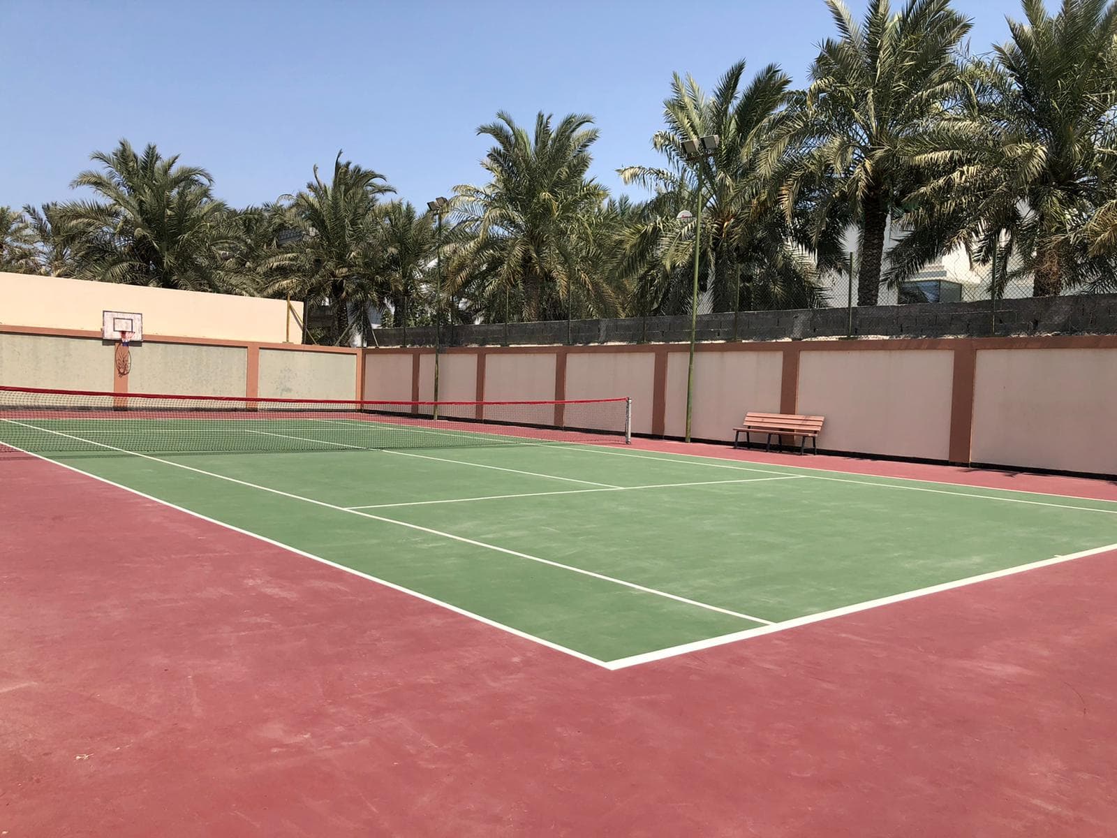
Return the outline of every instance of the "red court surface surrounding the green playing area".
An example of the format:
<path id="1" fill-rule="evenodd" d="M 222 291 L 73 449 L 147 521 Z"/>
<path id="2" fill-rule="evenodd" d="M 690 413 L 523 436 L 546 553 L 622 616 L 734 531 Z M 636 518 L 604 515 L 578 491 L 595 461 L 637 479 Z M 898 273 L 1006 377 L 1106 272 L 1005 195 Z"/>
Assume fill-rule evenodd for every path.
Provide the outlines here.
<path id="1" fill-rule="evenodd" d="M 609 672 L 48 463 L 0 473 L 11 838 L 1117 831 L 1114 554 Z"/>

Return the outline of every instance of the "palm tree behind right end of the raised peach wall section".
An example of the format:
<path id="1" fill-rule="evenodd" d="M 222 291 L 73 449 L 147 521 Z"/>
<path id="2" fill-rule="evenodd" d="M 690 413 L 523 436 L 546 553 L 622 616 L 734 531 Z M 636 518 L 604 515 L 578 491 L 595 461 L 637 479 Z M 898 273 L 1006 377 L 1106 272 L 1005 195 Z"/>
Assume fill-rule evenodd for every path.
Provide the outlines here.
<path id="1" fill-rule="evenodd" d="M 314 180 L 290 203 L 302 239 L 264 265 L 274 277 L 268 293 L 306 301 L 307 317 L 311 306 L 330 307 L 331 343 L 371 334 L 372 310 L 384 308 L 391 297 L 379 199 L 394 191 L 383 174 L 342 162 L 337 152 L 333 178 L 322 180 L 314 166 Z"/>

